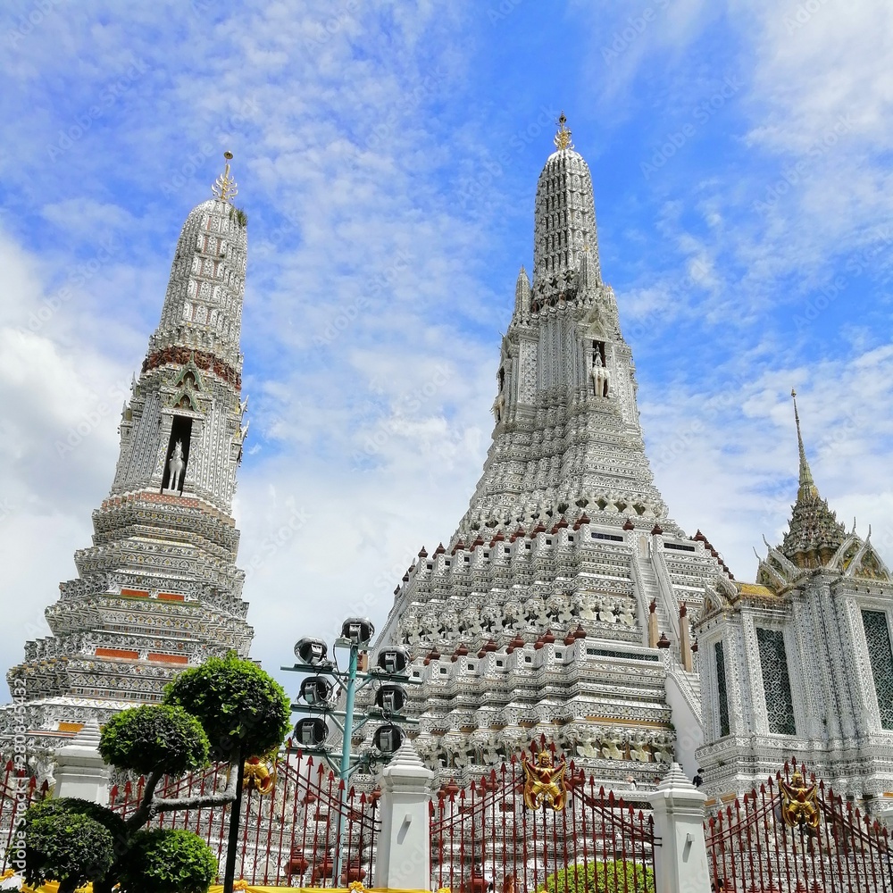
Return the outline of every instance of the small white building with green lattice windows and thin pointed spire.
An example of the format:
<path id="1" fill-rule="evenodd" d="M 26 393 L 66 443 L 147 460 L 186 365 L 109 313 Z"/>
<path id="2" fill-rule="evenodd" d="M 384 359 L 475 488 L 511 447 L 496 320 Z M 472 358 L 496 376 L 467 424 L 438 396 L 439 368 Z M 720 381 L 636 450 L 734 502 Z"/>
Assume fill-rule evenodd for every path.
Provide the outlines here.
<path id="1" fill-rule="evenodd" d="M 893 584 L 819 496 L 800 451 L 797 502 L 755 584 L 717 577 L 697 620 L 708 790 L 749 790 L 796 757 L 870 812 L 893 791 Z M 889 801 L 888 801 L 889 802 Z"/>

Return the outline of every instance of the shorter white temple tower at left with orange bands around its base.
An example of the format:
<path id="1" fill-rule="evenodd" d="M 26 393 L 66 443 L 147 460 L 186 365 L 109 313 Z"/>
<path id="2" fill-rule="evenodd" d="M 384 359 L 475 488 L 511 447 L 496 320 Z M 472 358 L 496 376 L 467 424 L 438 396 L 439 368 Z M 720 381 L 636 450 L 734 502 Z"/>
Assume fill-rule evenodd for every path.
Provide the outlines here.
<path id="1" fill-rule="evenodd" d="M 214 192 L 180 233 L 161 322 L 121 413 L 112 489 L 93 513 L 93 544 L 75 554 L 78 578 L 46 609 L 53 634 L 28 642 L 8 673 L 10 688 L 26 691 L 38 748 L 158 701 L 174 673 L 230 649 L 245 656 L 251 644 L 231 516 L 247 430 L 247 235 L 229 162 Z M 15 723 L 13 707 L 0 707 L 0 738 Z"/>

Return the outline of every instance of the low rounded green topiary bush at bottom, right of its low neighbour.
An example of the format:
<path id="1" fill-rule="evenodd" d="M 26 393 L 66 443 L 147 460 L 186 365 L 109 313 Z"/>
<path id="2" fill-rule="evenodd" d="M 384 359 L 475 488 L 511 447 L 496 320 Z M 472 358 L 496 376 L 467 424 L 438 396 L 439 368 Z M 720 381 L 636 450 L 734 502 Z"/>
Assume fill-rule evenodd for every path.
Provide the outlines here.
<path id="1" fill-rule="evenodd" d="M 119 883 L 122 893 L 206 893 L 216 874 L 217 859 L 192 831 L 144 829 L 133 836 Z"/>

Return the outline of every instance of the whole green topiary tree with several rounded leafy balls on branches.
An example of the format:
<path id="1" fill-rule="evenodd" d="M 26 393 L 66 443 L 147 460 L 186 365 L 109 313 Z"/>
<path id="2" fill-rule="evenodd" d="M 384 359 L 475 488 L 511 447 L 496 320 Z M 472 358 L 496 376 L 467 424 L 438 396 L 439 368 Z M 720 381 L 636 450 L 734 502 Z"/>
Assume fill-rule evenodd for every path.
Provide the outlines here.
<path id="1" fill-rule="evenodd" d="M 84 880 L 93 880 L 96 893 L 111 893 L 119 882 L 127 893 L 204 893 L 217 872 L 204 841 L 186 830 L 140 829 L 176 809 L 231 803 L 231 814 L 238 816 L 245 760 L 279 747 L 289 718 L 284 689 L 235 653 L 182 672 L 166 690 L 164 704 L 123 710 L 102 732 L 99 752 L 106 763 L 146 775 L 137 809 L 123 821 L 104 806 L 75 798 L 32 806 L 26 814 L 29 883 L 59 880 L 60 893 Z M 234 770 L 226 790 L 156 797 L 165 775 L 201 768 L 209 755 Z M 236 830 L 238 822 L 230 822 L 230 857 Z M 228 864 L 231 889 L 230 874 Z"/>

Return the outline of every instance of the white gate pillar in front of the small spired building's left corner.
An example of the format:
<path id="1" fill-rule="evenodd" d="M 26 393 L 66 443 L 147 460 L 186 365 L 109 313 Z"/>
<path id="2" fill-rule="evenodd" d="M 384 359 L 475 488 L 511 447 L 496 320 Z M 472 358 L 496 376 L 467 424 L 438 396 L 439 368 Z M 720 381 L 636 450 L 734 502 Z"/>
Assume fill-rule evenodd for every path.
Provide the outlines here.
<path id="1" fill-rule="evenodd" d="M 648 795 L 655 811 L 657 893 L 710 893 L 704 839 L 706 797 L 672 764 L 670 772 Z"/>

